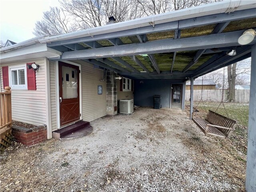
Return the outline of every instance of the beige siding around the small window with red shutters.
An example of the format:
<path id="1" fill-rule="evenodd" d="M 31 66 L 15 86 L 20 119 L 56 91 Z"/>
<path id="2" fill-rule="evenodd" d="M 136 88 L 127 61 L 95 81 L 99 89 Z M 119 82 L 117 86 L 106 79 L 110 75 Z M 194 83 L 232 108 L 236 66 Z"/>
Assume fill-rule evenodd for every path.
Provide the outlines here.
<path id="1" fill-rule="evenodd" d="M 26 64 L 27 62 L 36 62 L 36 64 L 39 64 L 40 66 L 39 70 L 36 71 L 36 90 L 12 89 L 12 118 L 16 121 L 34 125 L 46 124 L 46 63 L 44 58 L 12 62 L 8 64 L 1 63 L 1 91 L 4 91 L 2 66 L 18 66 Z"/>

